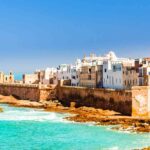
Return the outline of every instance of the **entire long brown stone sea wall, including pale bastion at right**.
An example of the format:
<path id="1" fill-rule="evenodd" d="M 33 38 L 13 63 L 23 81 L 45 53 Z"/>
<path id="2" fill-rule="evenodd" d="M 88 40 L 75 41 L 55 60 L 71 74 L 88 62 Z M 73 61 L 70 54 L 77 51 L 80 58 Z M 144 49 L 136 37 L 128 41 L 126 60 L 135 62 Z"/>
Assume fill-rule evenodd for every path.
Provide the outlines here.
<path id="1" fill-rule="evenodd" d="M 118 111 L 134 117 L 150 117 L 150 86 L 132 90 L 71 87 L 59 84 L 45 87 L 28 84 L 0 84 L 1 95 L 32 101 L 59 100 L 64 106 L 87 106 Z M 73 102 L 73 103 L 72 103 Z"/>

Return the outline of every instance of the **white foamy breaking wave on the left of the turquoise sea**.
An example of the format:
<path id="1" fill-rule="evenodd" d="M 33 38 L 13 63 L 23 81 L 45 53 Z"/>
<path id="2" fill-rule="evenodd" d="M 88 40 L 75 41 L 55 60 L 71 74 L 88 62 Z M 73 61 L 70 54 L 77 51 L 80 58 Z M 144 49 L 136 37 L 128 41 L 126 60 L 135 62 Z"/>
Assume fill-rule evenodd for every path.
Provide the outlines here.
<path id="1" fill-rule="evenodd" d="M 66 114 L 44 112 L 39 109 L 30 108 L 13 108 L 7 105 L 2 106 L 3 113 L 0 113 L 0 121 L 51 121 L 51 122 L 67 122 L 63 118 Z M 6 111 L 5 111 L 6 110 Z"/>

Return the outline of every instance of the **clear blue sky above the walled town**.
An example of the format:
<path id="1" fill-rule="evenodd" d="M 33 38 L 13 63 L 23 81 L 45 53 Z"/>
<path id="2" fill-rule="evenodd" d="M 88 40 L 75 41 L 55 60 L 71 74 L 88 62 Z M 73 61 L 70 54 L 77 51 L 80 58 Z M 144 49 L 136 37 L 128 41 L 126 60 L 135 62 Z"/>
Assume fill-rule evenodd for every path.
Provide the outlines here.
<path id="1" fill-rule="evenodd" d="M 0 70 L 30 72 L 109 50 L 150 56 L 149 0 L 0 0 Z"/>

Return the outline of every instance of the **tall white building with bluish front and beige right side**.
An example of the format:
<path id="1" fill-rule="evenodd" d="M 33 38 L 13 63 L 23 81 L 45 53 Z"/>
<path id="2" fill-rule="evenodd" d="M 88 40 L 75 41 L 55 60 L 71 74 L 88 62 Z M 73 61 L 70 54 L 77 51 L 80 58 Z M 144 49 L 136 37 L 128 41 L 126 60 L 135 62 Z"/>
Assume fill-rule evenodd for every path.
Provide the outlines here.
<path id="1" fill-rule="evenodd" d="M 127 89 L 133 85 L 138 85 L 138 73 L 134 68 L 134 60 L 117 58 L 111 52 L 110 59 L 103 63 L 103 87 Z"/>

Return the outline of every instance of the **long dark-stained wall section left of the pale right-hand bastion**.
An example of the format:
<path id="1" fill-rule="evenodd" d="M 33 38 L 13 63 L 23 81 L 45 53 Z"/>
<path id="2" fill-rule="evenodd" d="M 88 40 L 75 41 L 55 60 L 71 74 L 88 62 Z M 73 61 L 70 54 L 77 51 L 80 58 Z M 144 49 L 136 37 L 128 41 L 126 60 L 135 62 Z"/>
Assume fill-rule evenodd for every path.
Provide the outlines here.
<path id="1" fill-rule="evenodd" d="M 59 86 L 57 96 L 66 106 L 75 102 L 76 107 L 88 106 L 109 109 L 121 112 L 124 115 L 131 115 L 132 113 L 131 90 Z"/>

